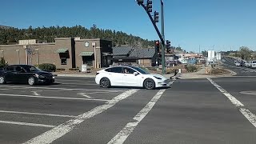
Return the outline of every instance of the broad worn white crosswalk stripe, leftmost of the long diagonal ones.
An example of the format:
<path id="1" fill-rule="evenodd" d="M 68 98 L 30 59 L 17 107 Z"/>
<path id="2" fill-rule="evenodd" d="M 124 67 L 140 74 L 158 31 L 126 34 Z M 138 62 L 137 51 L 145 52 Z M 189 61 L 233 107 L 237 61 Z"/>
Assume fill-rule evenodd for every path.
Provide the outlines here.
<path id="1" fill-rule="evenodd" d="M 45 133 L 38 135 L 37 137 L 32 138 L 25 143 L 38 144 L 54 142 L 54 140 L 61 138 L 63 135 L 73 130 L 75 126 L 78 126 L 86 119 L 93 118 L 95 115 L 101 114 L 105 110 L 108 110 L 110 107 L 114 106 L 116 103 L 122 101 L 125 98 L 130 97 L 130 95 L 136 93 L 137 91 L 138 89 L 127 90 L 124 93 L 114 97 L 109 102 L 106 102 L 104 105 L 97 106 L 84 114 L 80 114 L 76 118 L 70 119 L 69 121 L 62 123 L 61 125 L 54 127 L 52 130 L 46 131 Z"/>

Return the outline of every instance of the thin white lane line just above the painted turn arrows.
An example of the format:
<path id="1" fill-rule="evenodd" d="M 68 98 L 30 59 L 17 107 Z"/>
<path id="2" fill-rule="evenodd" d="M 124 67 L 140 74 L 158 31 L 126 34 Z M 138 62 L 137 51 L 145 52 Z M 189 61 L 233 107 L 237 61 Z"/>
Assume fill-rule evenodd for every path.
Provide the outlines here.
<path id="1" fill-rule="evenodd" d="M 10 88 L 22 88 L 22 89 L 46 89 L 46 90 L 83 90 L 83 91 L 108 91 L 108 92 L 120 92 L 123 90 L 94 90 L 94 89 L 66 89 L 58 87 L 37 87 L 37 86 L 0 86 L 0 87 L 10 87 Z"/>

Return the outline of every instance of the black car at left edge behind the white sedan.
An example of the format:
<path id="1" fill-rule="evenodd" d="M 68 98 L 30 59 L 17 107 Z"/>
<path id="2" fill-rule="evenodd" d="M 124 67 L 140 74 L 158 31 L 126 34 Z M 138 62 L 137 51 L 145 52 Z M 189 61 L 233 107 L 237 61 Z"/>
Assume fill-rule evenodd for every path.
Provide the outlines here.
<path id="1" fill-rule="evenodd" d="M 53 84 L 54 79 L 54 74 L 29 65 L 10 65 L 0 71 L 0 84 L 19 82 L 27 83 L 32 86 L 39 83 Z"/>

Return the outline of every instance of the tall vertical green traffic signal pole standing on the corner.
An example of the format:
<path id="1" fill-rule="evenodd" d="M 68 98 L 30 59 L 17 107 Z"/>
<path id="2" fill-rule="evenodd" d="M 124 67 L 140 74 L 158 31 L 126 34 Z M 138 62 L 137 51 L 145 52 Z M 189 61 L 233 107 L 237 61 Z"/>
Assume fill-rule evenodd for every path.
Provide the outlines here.
<path id="1" fill-rule="evenodd" d="M 165 23 L 163 17 L 163 2 L 161 0 L 161 27 L 162 27 L 162 74 L 166 74 L 166 54 L 165 54 Z"/>

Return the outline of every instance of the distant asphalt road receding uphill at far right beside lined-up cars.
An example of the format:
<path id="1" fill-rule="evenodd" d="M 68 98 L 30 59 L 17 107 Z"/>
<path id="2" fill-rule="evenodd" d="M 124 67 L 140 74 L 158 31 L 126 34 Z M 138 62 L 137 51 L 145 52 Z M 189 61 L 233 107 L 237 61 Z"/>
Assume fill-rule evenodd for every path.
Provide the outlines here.
<path id="1" fill-rule="evenodd" d="M 227 69 L 233 70 L 237 73 L 237 76 L 256 76 L 256 69 L 250 69 L 243 66 L 235 66 L 234 61 L 236 59 L 230 57 L 222 58 L 223 66 Z"/>

